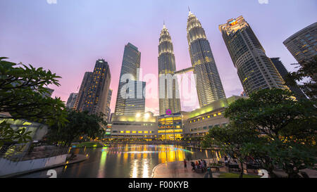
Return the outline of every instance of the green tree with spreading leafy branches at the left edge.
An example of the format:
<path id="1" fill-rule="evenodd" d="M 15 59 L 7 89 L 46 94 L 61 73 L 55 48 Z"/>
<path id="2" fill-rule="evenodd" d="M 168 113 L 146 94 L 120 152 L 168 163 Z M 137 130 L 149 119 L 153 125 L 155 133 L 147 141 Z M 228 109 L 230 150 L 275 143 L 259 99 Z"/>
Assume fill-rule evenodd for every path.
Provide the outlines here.
<path id="1" fill-rule="evenodd" d="M 32 65 L 16 64 L 0 58 L 0 113 L 2 119 L 30 120 L 46 124 L 63 124 L 65 104 L 60 98 L 45 96 L 49 84 L 59 86 L 56 74 Z M 30 140 L 25 130 L 13 130 L 6 121 L 0 124 L 0 146 L 4 142 Z"/>

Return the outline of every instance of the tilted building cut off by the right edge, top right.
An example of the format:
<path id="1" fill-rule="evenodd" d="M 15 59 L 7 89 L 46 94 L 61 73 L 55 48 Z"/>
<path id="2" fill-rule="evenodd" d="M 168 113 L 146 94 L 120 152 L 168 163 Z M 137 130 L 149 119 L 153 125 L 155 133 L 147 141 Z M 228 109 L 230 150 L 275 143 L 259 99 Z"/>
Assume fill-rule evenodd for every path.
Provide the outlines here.
<path id="1" fill-rule="evenodd" d="M 317 22 L 287 38 L 283 44 L 299 64 L 317 55 Z"/>

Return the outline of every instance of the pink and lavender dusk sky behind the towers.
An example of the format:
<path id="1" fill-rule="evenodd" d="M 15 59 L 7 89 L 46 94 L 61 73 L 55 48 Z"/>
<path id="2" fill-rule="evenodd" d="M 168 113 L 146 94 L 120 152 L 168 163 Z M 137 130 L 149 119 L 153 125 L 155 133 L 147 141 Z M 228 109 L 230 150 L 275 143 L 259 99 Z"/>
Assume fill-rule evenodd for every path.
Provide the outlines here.
<path id="1" fill-rule="evenodd" d="M 142 5 L 142 6 L 141 6 Z M 204 6 L 201 6 L 204 5 Z M 111 70 L 113 95 L 116 93 L 123 49 L 128 42 L 142 53 L 143 75 L 158 74 L 159 32 L 165 20 L 173 39 L 176 69 L 191 66 L 186 38 L 188 9 L 201 21 L 209 39 L 220 79 L 227 97 L 243 91 L 237 71 L 218 30 L 218 25 L 243 15 L 259 38 L 268 57 L 280 57 L 287 70 L 297 63 L 282 41 L 316 22 L 316 1 L 0 1 L 0 53 L 12 62 L 30 63 L 61 76 L 61 87 L 53 96 L 67 101 L 79 91 L 84 73 L 104 58 Z M 77 89 L 78 87 L 78 89 Z M 181 102 L 182 103 L 182 102 Z M 197 101 L 197 106 L 199 103 Z M 183 106 L 182 110 L 195 107 Z M 146 111 L 159 112 L 159 98 L 147 99 Z"/>

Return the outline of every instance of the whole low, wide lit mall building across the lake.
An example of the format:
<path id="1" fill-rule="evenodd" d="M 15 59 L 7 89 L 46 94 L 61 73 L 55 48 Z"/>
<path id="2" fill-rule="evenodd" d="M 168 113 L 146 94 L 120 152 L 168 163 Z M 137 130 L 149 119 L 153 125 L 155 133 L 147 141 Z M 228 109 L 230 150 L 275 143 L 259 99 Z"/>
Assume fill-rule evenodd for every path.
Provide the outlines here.
<path id="1" fill-rule="evenodd" d="M 224 127 L 229 120 L 223 116 L 225 108 L 242 96 L 214 101 L 191 112 L 154 116 L 153 113 L 135 116 L 113 115 L 108 124 L 109 138 L 124 141 L 180 141 L 201 138 L 212 127 Z"/>

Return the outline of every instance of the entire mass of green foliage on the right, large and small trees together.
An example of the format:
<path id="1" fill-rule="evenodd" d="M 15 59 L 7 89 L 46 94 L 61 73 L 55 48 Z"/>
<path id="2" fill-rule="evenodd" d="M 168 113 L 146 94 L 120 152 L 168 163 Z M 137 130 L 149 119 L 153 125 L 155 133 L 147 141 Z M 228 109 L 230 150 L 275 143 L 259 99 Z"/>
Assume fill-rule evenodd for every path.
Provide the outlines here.
<path id="1" fill-rule="evenodd" d="M 316 164 L 317 110 L 313 101 L 296 101 L 289 90 L 262 89 L 225 110 L 230 131 L 211 129 L 206 141 L 218 141 L 237 158 L 251 156 L 274 177 L 279 165 L 289 177 Z M 245 136 L 245 137 L 244 137 Z"/>

